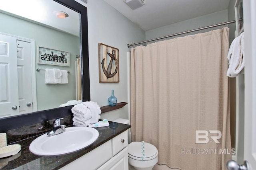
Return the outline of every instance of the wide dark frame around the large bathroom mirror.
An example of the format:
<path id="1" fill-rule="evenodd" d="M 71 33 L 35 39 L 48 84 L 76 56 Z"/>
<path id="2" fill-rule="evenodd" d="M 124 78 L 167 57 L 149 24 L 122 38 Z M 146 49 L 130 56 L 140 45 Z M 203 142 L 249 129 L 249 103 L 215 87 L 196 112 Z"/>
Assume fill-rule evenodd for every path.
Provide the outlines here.
<path id="1" fill-rule="evenodd" d="M 90 76 L 89 76 L 89 49 L 88 49 L 88 18 L 87 8 L 75 0 L 54 0 L 80 14 L 80 60 L 82 79 L 82 101 L 90 101 Z M 0 118 L 0 132 L 18 127 L 32 125 L 51 119 L 72 115 L 73 106 L 58 107 L 49 110 L 36 111 L 22 115 Z"/>

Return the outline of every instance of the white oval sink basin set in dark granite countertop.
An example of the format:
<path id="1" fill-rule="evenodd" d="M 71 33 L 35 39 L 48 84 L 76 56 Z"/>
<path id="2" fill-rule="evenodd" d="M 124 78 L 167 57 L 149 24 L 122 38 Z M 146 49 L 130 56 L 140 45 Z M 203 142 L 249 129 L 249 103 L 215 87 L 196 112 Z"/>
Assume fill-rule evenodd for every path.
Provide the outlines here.
<path id="1" fill-rule="evenodd" d="M 89 146 L 99 137 L 92 127 L 67 127 L 66 131 L 48 137 L 46 134 L 30 143 L 29 150 L 40 156 L 67 154 Z"/>

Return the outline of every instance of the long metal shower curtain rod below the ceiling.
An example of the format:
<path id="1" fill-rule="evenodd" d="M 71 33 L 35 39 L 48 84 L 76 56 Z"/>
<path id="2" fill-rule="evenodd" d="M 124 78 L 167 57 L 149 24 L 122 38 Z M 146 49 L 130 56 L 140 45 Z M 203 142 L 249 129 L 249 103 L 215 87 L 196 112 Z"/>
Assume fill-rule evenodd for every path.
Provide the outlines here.
<path id="1" fill-rule="evenodd" d="M 243 20 L 242 18 L 240 18 L 238 21 L 240 20 Z M 159 38 L 155 38 L 155 39 L 150 39 L 150 40 L 146 40 L 146 41 L 142 41 L 140 43 L 134 43 L 134 44 L 127 44 L 128 48 L 133 46 L 133 45 L 138 45 L 138 44 L 142 44 L 142 43 L 148 43 L 150 41 L 156 41 L 158 39 L 164 39 L 164 38 L 168 38 L 168 37 L 174 37 L 174 36 L 177 36 L 177 35 L 181 35 L 181 34 L 186 34 L 186 33 L 191 33 L 191 32 L 195 32 L 195 31 L 200 31 L 200 30 L 203 30 L 203 29 L 208 29 L 208 28 L 213 28 L 213 27 L 218 27 L 218 26 L 221 26 L 221 25 L 226 25 L 226 24 L 230 24 L 230 23 L 234 23 L 236 22 L 236 20 L 233 20 L 233 21 L 228 21 L 228 22 L 223 22 L 223 23 L 218 23 L 218 24 L 215 24 L 215 25 L 210 25 L 210 26 L 207 26 L 207 27 L 202 27 L 202 28 L 198 28 L 198 29 L 192 29 L 190 31 L 184 31 L 184 32 L 181 32 L 181 33 L 175 33 L 175 34 L 172 34 L 172 35 L 167 35 L 167 36 L 164 36 L 164 37 L 159 37 Z"/>

